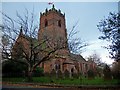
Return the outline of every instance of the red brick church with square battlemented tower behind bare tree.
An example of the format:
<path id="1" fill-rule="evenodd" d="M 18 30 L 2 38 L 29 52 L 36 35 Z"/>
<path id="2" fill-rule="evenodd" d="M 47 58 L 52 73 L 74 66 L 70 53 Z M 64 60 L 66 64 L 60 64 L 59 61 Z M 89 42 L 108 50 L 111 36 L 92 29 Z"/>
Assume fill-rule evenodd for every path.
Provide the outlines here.
<path id="1" fill-rule="evenodd" d="M 22 40 L 21 36 L 23 36 L 22 31 L 17 38 L 17 42 Z M 82 73 L 84 75 L 89 69 L 96 69 L 96 64 L 93 61 L 86 61 L 81 55 L 72 54 L 69 51 L 65 14 L 60 9 L 57 10 L 54 5 L 51 9 L 46 9 L 45 12 L 40 13 L 37 41 L 42 42 L 44 39 L 49 39 L 46 44 L 51 45 L 52 48 L 55 48 L 55 44 L 52 42 L 55 42 L 58 46 L 66 47 L 57 51 L 52 59 L 39 65 L 43 68 L 44 73 L 51 73 L 53 70 L 64 73 L 67 70 L 69 73 Z M 25 47 L 28 47 L 26 46 L 29 43 L 27 39 L 22 40 L 22 42 L 24 42 Z M 18 47 L 18 45 L 15 44 L 14 47 Z M 39 55 L 41 56 L 41 54 Z"/>

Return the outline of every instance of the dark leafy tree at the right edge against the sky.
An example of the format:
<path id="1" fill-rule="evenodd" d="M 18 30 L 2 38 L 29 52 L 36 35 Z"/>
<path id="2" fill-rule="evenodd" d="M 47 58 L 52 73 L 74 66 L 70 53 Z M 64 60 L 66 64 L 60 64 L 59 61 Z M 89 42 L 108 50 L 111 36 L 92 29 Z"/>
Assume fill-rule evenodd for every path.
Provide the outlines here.
<path id="1" fill-rule="evenodd" d="M 99 39 L 111 42 L 106 47 L 109 50 L 111 58 L 117 61 L 120 60 L 120 12 L 110 12 L 108 18 L 99 22 L 98 29 L 103 34 Z"/>

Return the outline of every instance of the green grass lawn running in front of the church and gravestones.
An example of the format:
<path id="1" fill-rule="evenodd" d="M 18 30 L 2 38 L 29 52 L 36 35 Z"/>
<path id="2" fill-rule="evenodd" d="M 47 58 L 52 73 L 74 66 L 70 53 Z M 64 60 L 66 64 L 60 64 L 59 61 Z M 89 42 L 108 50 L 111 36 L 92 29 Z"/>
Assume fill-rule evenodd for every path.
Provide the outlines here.
<path id="1" fill-rule="evenodd" d="M 3 81 L 7 82 L 26 82 L 25 78 L 3 78 Z M 103 80 L 102 78 L 95 79 L 56 79 L 50 77 L 33 77 L 34 83 L 42 83 L 42 84 L 61 84 L 61 85 L 117 85 L 118 80 Z"/>

